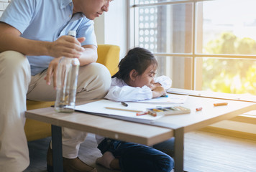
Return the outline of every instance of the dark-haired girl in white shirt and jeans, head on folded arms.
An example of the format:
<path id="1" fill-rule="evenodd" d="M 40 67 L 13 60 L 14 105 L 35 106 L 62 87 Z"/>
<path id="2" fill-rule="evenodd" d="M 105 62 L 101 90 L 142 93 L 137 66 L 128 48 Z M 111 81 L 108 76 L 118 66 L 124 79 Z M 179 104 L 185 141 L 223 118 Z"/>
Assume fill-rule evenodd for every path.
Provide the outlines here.
<path id="1" fill-rule="evenodd" d="M 115 101 L 147 100 L 165 95 L 169 77 L 155 78 L 157 60 L 147 49 L 134 48 L 119 62 L 119 72 L 111 81 L 106 99 Z M 169 172 L 173 169 L 173 138 L 152 147 L 127 143 L 96 135 L 103 154 L 96 163 L 106 168 L 133 172 Z M 164 153 L 163 153 L 164 152 Z"/>

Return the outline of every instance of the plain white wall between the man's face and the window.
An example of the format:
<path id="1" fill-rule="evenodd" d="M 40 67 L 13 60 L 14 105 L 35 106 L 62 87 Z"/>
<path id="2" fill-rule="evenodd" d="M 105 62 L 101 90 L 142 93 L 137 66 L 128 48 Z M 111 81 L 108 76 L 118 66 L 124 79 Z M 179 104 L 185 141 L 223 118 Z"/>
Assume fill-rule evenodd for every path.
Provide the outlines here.
<path id="1" fill-rule="evenodd" d="M 115 44 L 120 47 L 120 58 L 127 52 L 126 1 L 111 1 L 109 11 L 95 19 L 98 44 Z"/>

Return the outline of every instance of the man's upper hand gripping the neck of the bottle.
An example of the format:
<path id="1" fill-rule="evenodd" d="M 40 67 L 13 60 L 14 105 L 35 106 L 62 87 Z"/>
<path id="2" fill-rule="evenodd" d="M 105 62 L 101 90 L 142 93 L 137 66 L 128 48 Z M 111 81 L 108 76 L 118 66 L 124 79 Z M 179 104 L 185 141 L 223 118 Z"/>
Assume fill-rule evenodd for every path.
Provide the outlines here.
<path id="1" fill-rule="evenodd" d="M 68 35 L 62 36 L 55 42 L 51 42 L 48 47 L 48 53 L 51 57 L 69 57 L 69 58 L 79 58 L 82 52 L 85 50 L 81 47 L 81 42 L 86 38 L 81 37 L 76 39 L 75 37 L 70 37 Z"/>

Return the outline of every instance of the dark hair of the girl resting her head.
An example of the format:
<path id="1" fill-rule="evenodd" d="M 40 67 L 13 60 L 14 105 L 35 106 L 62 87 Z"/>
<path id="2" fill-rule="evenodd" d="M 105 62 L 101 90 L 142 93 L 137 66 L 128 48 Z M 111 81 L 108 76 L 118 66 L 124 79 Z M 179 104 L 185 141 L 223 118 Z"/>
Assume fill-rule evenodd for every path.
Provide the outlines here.
<path id="1" fill-rule="evenodd" d="M 157 67 L 155 56 L 147 49 L 135 47 L 130 49 L 127 55 L 119 62 L 119 71 L 112 78 L 117 77 L 127 82 L 129 80 L 129 72 L 136 70 L 138 75 L 142 75 L 150 65 Z"/>

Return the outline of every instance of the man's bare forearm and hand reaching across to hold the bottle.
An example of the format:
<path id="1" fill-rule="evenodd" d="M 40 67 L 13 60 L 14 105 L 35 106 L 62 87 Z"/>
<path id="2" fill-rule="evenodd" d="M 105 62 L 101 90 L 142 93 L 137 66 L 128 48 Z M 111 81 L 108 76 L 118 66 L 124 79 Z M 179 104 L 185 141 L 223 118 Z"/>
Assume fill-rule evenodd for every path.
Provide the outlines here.
<path id="1" fill-rule="evenodd" d="M 73 37 L 63 36 L 55 42 L 43 42 L 25 39 L 20 35 L 18 29 L 0 22 L 0 52 L 13 50 L 24 55 L 70 58 L 79 58 L 84 52 L 81 43 Z"/>

